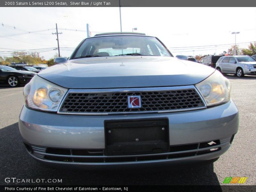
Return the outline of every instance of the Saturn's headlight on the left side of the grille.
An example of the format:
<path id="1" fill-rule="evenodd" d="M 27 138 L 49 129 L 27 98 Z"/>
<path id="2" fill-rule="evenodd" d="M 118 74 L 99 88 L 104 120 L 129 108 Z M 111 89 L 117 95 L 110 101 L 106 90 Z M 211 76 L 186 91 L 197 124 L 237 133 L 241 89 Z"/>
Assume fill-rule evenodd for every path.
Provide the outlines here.
<path id="1" fill-rule="evenodd" d="M 57 111 L 68 89 L 34 76 L 23 89 L 26 106 L 44 111 Z"/>

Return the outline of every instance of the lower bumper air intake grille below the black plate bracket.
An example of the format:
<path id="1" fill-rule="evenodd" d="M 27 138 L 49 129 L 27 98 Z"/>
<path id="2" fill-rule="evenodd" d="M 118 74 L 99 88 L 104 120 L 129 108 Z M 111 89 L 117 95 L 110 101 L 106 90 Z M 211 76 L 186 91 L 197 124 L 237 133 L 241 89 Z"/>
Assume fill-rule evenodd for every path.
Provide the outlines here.
<path id="1" fill-rule="evenodd" d="M 39 159 L 58 162 L 115 163 L 152 161 L 204 155 L 220 151 L 222 146 L 227 146 L 229 144 L 230 138 L 227 138 L 221 141 L 212 140 L 202 143 L 173 145 L 170 146 L 168 153 L 121 156 L 106 156 L 105 149 L 63 149 L 46 148 L 39 146 L 31 146 L 31 148 L 28 148 L 28 144 L 25 145 L 29 153 L 31 153 L 33 156 Z"/>

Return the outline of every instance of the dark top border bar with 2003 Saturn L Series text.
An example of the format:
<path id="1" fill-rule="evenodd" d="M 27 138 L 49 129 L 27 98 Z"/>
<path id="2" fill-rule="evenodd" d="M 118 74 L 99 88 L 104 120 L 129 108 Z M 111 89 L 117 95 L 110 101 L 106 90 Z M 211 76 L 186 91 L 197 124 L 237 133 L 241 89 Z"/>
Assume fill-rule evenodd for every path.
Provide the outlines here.
<path id="1" fill-rule="evenodd" d="M 119 5 L 120 2 L 120 5 Z M 1 0 L 0 7 L 256 7 L 243 0 Z M 216 8 L 217 11 L 217 8 Z M 218 14 L 209 13 L 209 14 Z M 231 13 L 232 14 L 232 13 Z M 234 13 L 235 14 L 235 13 Z"/>

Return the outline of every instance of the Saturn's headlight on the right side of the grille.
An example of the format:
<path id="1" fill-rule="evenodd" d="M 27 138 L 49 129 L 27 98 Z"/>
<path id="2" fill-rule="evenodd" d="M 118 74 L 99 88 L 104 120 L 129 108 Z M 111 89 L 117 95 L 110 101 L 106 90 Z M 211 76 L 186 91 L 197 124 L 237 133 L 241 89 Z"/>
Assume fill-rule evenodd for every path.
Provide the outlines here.
<path id="1" fill-rule="evenodd" d="M 230 100 L 231 84 L 219 71 L 196 84 L 207 106 L 219 105 Z"/>

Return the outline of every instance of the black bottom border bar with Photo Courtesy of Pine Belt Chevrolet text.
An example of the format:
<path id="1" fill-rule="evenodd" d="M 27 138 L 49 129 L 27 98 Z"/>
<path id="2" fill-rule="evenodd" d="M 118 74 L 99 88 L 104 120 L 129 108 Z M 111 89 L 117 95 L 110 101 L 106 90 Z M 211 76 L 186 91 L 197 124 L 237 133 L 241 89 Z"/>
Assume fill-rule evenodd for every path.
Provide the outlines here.
<path id="1" fill-rule="evenodd" d="M 0 191 L 41 191 L 41 192 L 48 192 L 48 191 L 122 191 L 122 192 L 141 192 L 141 191 L 256 191 L 255 185 L 237 185 L 237 184 L 230 184 L 230 185 L 152 185 L 152 186 L 135 186 L 135 185 L 116 185 L 116 186 L 97 186 L 97 185 L 91 185 L 91 186 L 76 186 L 76 185 L 2 185 L 0 188 Z"/>

